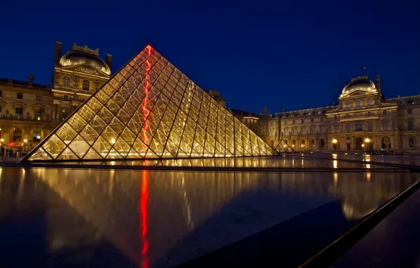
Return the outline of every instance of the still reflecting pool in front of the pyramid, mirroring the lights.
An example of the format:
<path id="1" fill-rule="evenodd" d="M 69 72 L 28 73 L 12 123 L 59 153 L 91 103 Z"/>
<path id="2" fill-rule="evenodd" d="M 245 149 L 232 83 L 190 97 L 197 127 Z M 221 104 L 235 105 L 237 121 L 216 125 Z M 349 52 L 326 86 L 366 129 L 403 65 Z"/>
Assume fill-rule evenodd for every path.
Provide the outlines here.
<path id="1" fill-rule="evenodd" d="M 3 168 L 0 260 L 5 267 L 173 267 L 332 202 L 339 209 L 328 222 L 350 228 L 418 179 Z"/>

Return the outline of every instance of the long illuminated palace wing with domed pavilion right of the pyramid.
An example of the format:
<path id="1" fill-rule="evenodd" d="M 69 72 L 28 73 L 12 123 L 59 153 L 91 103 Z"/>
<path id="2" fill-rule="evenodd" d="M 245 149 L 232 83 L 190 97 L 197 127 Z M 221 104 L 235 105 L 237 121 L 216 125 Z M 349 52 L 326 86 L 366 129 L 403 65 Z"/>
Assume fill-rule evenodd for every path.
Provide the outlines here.
<path id="1" fill-rule="evenodd" d="M 385 99 L 381 81 L 367 76 L 345 83 L 338 104 L 278 114 L 264 112 L 257 134 L 296 151 L 393 150 L 420 152 L 420 95 Z"/>

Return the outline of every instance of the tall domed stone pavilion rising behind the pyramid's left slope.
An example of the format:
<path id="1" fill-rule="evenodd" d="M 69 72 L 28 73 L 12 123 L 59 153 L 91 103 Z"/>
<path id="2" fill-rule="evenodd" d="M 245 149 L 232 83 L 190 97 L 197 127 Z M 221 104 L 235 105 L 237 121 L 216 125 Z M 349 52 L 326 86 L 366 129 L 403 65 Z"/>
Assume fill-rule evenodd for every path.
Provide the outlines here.
<path id="1" fill-rule="evenodd" d="M 61 42 L 56 42 L 53 81 L 52 118 L 63 121 L 111 77 L 111 55 L 106 61 L 99 49 L 73 44 L 61 55 Z M 57 123 L 58 125 L 58 123 Z"/>

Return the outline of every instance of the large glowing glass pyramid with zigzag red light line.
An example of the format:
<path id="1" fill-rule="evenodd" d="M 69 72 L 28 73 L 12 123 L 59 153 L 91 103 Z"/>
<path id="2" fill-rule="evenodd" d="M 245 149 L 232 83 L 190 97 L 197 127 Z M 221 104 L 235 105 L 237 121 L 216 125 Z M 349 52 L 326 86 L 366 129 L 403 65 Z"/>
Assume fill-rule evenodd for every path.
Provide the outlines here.
<path id="1" fill-rule="evenodd" d="M 147 46 L 24 161 L 271 154 L 266 142 Z"/>

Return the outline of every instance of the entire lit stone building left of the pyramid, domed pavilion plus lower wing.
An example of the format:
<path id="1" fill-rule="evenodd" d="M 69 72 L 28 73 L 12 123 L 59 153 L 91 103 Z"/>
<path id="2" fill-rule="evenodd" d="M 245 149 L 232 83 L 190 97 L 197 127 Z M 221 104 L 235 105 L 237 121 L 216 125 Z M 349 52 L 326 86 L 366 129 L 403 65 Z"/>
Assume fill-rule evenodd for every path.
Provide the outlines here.
<path id="1" fill-rule="evenodd" d="M 56 42 L 50 85 L 0 78 L 0 145 L 28 152 L 111 77 L 111 55 L 73 44 L 61 55 Z"/>

